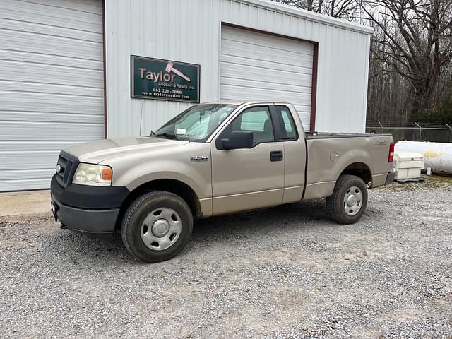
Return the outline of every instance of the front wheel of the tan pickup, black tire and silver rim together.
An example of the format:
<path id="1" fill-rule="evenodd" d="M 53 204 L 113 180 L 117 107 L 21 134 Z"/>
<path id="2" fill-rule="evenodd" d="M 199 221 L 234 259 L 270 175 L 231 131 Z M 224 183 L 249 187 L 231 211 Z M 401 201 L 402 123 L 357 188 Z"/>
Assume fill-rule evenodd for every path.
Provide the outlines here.
<path id="1" fill-rule="evenodd" d="M 193 215 L 186 202 L 165 191 L 138 197 L 124 213 L 121 236 L 126 249 L 148 263 L 177 256 L 193 230 Z"/>

